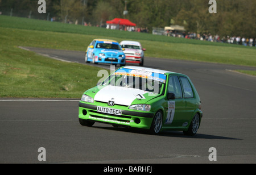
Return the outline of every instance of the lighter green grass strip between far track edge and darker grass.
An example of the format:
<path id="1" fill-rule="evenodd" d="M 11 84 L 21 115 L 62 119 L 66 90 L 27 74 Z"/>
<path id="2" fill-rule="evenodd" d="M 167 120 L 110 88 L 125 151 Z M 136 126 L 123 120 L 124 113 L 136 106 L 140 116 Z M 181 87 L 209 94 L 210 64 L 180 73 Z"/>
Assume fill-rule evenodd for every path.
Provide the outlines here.
<path id="1" fill-rule="evenodd" d="M 75 26 L 75 25 L 74 25 Z M 76 27 L 76 26 L 75 26 Z M 1 38 L 15 45 L 85 51 L 95 38 L 120 38 L 100 35 L 82 35 L 60 32 L 20 30 L 0 27 Z M 185 40 L 185 39 L 184 39 Z M 256 66 L 256 49 L 245 47 L 222 47 L 220 45 L 198 45 L 184 43 L 164 43 L 160 41 L 138 40 L 147 49 L 146 57 L 166 59 L 218 62 L 224 64 Z"/>

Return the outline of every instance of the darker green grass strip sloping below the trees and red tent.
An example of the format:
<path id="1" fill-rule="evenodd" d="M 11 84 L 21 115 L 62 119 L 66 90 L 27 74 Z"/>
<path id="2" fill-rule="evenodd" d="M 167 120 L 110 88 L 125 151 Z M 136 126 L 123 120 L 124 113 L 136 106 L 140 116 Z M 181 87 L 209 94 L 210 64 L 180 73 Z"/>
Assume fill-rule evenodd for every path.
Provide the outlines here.
<path id="1" fill-rule="evenodd" d="M 132 40 L 148 40 L 148 41 L 160 41 L 165 43 L 184 43 L 184 44 L 198 44 L 198 45 L 222 45 L 229 46 L 221 43 L 211 43 L 208 41 L 199 40 L 185 40 L 181 38 L 172 38 L 166 36 L 144 34 L 139 32 L 125 32 L 119 30 L 106 30 L 100 27 L 85 27 L 75 24 L 66 24 L 60 22 L 49 22 L 46 20 L 36 20 L 27 18 L 18 18 L 0 15 L 0 27 L 5 28 L 17 28 L 35 31 L 51 31 L 61 32 L 69 34 L 82 34 L 82 35 L 96 35 L 106 36 L 112 38 L 132 39 Z M 238 45 L 232 45 L 232 47 L 239 47 Z"/>

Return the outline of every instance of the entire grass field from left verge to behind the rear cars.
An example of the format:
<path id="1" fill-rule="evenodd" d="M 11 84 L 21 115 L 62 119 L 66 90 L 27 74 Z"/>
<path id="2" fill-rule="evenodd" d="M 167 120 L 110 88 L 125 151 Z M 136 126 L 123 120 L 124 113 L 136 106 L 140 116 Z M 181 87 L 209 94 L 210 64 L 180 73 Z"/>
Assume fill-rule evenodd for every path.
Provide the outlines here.
<path id="1" fill-rule="evenodd" d="M 18 47 L 85 51 L 95 38 L 138 40 L 147 49 L 146 57 L 256 66 L 256 49 L 240 45 L 0 15 L 0 97 L 80 98 L 97 84 L 100 68 L 48 59 Z"/>

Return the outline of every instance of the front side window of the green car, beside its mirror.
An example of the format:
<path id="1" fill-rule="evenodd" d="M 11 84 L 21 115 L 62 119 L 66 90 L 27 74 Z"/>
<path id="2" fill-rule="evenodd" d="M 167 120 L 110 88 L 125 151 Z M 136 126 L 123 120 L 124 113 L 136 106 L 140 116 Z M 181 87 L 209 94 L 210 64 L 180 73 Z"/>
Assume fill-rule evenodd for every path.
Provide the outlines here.
<path id="1" fill-rule="evenodd" d="M 182 90 L 180 86 L 180 81 L 177 76 L 170 76 L 168 83 L 168 92 L 174 93 L 175 98 L 182 98 Z"/>

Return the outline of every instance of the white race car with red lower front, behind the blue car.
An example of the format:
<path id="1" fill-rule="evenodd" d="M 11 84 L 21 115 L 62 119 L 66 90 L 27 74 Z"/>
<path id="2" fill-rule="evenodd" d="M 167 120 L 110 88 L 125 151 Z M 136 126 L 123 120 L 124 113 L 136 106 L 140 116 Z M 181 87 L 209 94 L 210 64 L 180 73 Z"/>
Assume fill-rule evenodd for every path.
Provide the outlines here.
<path id="1" fill-rule="evenodd" d="M 125 53 L 126 62 L 139 63 L 141 66 L 143 65 L 144 51 L 146 51 L 146 49 L 142 48 L 141 43 L 138 41 L 121 41 L 119 44 L 125 49 L 123 52 Z"/>

